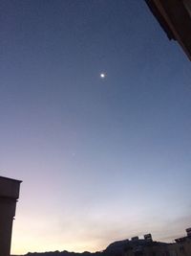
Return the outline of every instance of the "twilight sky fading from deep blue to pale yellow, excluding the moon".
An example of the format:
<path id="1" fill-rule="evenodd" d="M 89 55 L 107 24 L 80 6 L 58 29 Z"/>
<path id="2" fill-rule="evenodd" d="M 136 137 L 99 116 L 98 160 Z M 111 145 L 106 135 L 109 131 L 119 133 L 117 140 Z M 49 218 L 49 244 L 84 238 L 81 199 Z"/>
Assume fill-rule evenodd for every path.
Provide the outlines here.
<path id="1" fill-rule="evenodd" d="M 184 236 L 191 72 L 180 45 L 144 1 L 0 9 L 0 175 L 23 180 L 11 253 Z"/>

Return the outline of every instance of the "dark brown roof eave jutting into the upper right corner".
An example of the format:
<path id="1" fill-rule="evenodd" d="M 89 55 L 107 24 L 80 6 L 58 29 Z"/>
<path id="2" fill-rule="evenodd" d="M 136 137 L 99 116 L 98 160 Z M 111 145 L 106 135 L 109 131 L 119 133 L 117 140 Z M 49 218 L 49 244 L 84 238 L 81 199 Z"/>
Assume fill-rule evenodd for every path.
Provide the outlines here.
<path id="1" fill-rule="evenodd" d="M 191 60 L 191 0 L 145 0 L 169 39 Z"/>

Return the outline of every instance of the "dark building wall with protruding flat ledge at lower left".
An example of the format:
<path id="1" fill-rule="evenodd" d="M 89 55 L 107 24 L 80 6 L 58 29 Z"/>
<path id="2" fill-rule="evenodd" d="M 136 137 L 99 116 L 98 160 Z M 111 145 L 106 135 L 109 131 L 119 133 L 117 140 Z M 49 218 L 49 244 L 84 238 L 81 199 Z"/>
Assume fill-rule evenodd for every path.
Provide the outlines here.
<path id="1" fill-rule="evenodd" d="M 20 183 L 20 180 L 0 176 L 0 256 L 10 256 L 12 221 Z"/>

